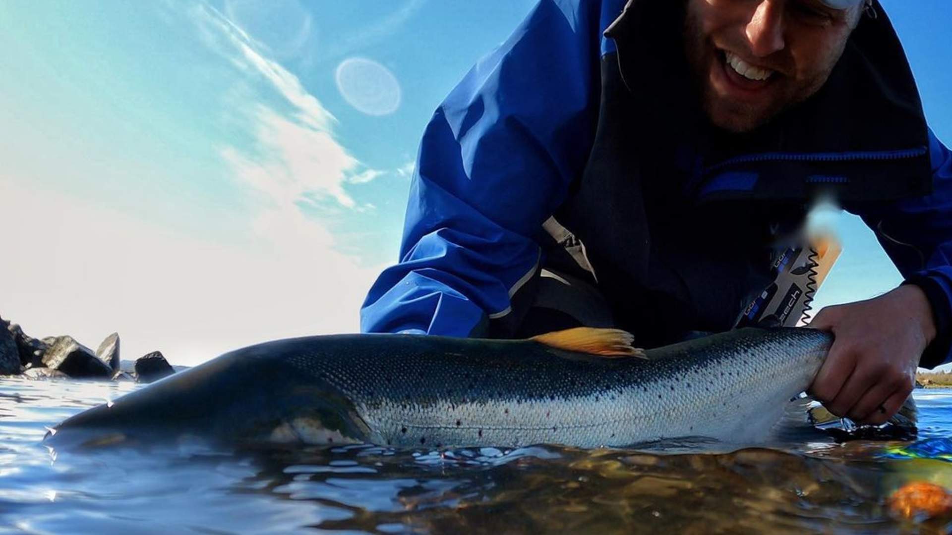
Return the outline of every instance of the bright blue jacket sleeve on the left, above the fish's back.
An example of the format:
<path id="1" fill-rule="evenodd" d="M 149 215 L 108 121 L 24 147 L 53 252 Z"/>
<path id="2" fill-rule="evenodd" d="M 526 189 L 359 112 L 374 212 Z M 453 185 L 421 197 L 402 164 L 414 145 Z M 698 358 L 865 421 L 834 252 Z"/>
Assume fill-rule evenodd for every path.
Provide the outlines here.
<path id="1" fill-rule="evenodd" d="M 542 0 L 466 74 L 421 142 L 400 263 L 370 288 L 364 332 L 478 335 L 539 265 L 533 241 L 594 135 L 599 0 Z M 619 8 L 621 11 L 621 7 Z"/>

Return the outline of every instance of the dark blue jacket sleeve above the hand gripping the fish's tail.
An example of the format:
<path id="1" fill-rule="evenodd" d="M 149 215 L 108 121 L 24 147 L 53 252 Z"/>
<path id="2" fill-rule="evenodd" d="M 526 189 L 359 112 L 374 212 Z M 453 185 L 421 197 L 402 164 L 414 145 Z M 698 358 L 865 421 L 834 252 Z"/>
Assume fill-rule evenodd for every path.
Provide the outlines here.
<path id="1" fill-rule="evenodd" d="M 921 287 L 932 306 L 937 336 L 921 367 L 952 361 L 952 152 L 929 131 L 932 193 L 863 214 L 905 278 Z"/>

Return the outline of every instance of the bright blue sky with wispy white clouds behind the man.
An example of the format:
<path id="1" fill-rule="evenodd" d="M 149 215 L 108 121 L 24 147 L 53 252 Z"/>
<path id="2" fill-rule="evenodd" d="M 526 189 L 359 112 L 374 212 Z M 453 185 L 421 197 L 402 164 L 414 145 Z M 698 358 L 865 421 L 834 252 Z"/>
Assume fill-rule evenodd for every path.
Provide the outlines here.
<path id="1" fill-rule="evenodd" d="M 433 110 L 530 0 L 0 2 L 0 316 L 195 365 L 354 332 Z M 885 0 L 952 142 L 947 0 Z M 901 277 L 857 219 L 817 305 Z"/>

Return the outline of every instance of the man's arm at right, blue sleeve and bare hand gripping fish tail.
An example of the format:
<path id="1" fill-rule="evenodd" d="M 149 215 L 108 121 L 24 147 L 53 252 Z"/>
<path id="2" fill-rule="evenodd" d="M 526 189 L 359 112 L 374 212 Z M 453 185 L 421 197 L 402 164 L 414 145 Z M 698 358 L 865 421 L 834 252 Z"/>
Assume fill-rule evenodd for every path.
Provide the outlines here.
<path id="1" fill-rule="evenodd" d="M 933 192 L 861 214 L 905 282 L 826 307 L 810 327 L 836 341 L 811 388 L 831 412 L 882 424 L 915 386 L 917 366 L 952 360 L 952 153 L 931 131 Z"/>

